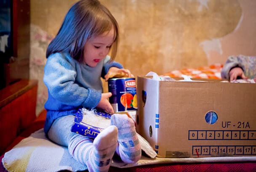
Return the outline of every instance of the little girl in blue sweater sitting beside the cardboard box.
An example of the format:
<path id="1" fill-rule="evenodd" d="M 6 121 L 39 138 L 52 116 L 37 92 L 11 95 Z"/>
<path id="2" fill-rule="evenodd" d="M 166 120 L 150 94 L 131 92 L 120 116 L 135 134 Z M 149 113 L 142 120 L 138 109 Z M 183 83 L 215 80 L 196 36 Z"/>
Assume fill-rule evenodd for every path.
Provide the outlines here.
<path id="1" fill-rule="evenodd" d="M 70 132 L 78 108 L 101 108 L 113 114 L 102 93 L 101 77 L 109 73 L 131 72 L 115 61 L 118 24 L 98 0 L 80 0 L 67 12 L 56 37 L 47 48 L 43 81 L 48 88 L 44 131 L 53 142 L 67 146 L 71 156 L 90 172 L 108 171 L 115 151 L 126 163 L 141 157 L 141 147 L 131 118 L 111 117 L 107 127 L 94 140 Z M 108 53 L 111 53 L 111 58 Z"/>

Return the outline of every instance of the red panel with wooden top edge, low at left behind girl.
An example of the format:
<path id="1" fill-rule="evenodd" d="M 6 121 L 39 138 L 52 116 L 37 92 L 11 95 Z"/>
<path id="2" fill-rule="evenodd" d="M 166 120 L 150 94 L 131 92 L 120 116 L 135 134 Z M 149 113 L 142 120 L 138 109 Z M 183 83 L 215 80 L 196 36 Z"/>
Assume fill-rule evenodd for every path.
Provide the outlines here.
<path id="1" fill-rule="evenodd" d="M 36 99 L 35 80 L 21 80 L 0 90 L 0 153 L 35 120 Z"/>

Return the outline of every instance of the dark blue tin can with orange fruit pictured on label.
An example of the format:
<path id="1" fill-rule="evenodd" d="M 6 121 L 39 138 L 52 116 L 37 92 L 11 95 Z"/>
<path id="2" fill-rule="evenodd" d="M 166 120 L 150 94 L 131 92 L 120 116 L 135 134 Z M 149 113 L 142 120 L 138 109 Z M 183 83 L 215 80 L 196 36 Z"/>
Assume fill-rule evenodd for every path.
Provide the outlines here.
<path id="1" fill-rule="evenodd" d="M 115 113 L 137 110 L 135 78 L 112 78 L 108 80 L 109 98 Z"/>

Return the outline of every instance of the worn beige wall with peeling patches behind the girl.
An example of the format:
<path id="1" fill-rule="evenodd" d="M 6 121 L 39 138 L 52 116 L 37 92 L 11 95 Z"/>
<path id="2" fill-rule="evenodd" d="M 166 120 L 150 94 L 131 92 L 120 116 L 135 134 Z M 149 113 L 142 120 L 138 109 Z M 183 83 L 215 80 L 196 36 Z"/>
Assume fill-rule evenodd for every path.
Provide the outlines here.
<path id="1" fill-rule="evenodd" d="M 31 76 L 42 79 L 47 45 L 76 0 L 30 2 L 31 68 L 41 71 L 31 70 Z M 163 74 L 174 69 L 224 64 L 230 55 L 256 55 L 256 0 L 101 2 L 120 25 L 116 61 L 135 76 L 149 71 Z M 38 33 L 41 36 L 38 37 Z M 42 84 L 39 90 L 41 104 L 47 97 L 45 92 Z"/>

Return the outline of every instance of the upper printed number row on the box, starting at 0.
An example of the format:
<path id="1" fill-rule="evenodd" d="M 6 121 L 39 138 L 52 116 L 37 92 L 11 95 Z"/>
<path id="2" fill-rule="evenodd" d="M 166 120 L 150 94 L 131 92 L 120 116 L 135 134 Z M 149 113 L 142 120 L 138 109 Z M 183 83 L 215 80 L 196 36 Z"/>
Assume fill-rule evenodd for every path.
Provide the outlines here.
<path id="1" fill-rule="evenodd" d="M 189 140 L 256 140 L 256 130 L 189 130 Z"/>

